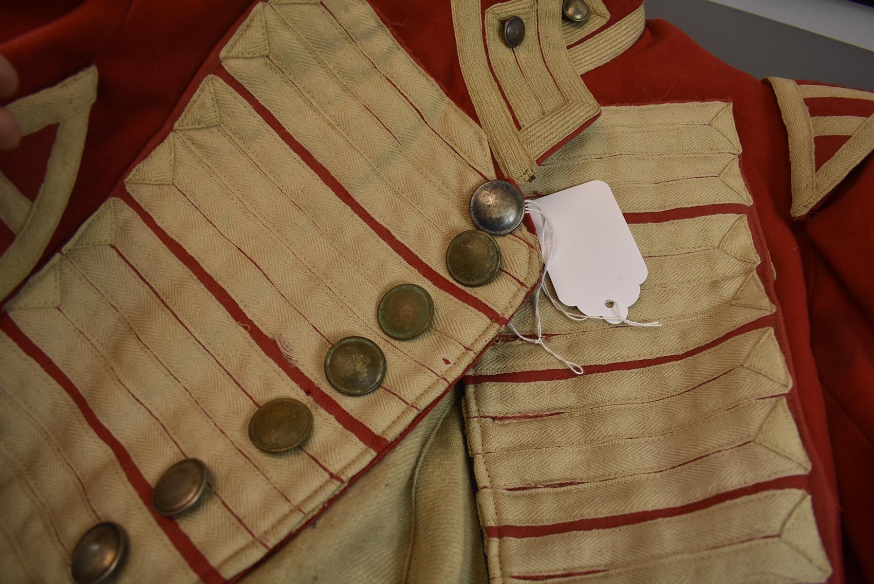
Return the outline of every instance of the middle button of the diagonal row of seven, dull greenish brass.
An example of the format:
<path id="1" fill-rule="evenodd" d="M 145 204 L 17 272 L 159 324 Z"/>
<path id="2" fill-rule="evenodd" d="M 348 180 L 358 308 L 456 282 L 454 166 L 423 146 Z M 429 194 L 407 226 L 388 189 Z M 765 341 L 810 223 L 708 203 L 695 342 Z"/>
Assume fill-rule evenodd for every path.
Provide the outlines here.
<path id="1" fill-rule="evenodd" d="M 325 376 L 341 394 L 369 394 L 385 379 L 385 355 L 370 339 L 346 337 L 328 349 Z"/>

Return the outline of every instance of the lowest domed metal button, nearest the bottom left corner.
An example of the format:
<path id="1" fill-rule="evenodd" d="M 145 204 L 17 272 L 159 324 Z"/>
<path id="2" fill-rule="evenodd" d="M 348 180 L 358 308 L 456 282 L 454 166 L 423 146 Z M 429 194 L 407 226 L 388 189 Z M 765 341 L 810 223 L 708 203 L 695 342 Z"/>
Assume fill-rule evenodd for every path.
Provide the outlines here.
<path id="1" fill-rule="evenodd" d="M 70 556 L 70 580 L 76 584 L 105 582 L 118 572 L 128 551 L 128 538 L 118 524 L 106 521 L 85 532 Z"/>

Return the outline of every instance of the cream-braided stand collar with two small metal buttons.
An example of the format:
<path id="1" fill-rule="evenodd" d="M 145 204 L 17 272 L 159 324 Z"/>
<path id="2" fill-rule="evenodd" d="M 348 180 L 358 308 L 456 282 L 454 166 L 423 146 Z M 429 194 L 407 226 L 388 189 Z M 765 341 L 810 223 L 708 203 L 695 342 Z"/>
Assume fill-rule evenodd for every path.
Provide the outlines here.
<path id="1" fill-rule="evenodd" d="M 452 0 L 461 72 L 476 114 L 507 177 L 527 181 L 538 165 L 596 120 L 600 106 L 581 75 L 633 45 L 642 0 L 586 0 L 583 23 L 562 18 L 562 0 Z M 503 23 L 520 17 L 510 48 Z"/>

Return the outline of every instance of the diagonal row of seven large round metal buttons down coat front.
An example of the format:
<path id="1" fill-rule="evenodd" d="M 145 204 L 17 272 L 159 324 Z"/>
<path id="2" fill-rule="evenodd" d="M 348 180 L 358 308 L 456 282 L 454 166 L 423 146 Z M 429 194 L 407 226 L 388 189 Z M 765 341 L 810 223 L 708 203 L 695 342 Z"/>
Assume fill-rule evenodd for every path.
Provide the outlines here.
<path id="1" fill-rule="evenodd" d="M 519 19 L 521 23 L 521 19 Z M 524 36 L 524 23 L 522 23 Z M 521 40 L 520 40 L 521 42 Z M 501 249 L 493 236 L 515 230 L 525 213 L 524 197 L 505 181 L 483 183 L 470 197 L 470 217 L 477 230 L 454 237 L 446 251 L 449 274 L 459 284 L 486 285 L 501 268 Z M 392 339 L 412 340 L 434 319 L 434 300 L 419 285 L 394 286 L 379 301 L 379 328 Z M 325 355 L 324 371 L 331 387 L 343 395 L 367 395 L 382 385 L 387 364 L 382 349 L 370 339 L 350 336 L 336 341 Z M 249 421 L 249 439 L 260 450 L 281 453 L 306 442 L 313 415 L 298 400 L 280 397 L 260 406 Z M 188 512 L 209 491 L 209 470 L 197 458 L 186 458 L 164 471 L 155 484 L 152 506 L 166 517 Z M 99 523 L 81 537 L 71 554 L 70 579 L 98 584 L 119 570 L 128 537 L 118 524 Z"/>

